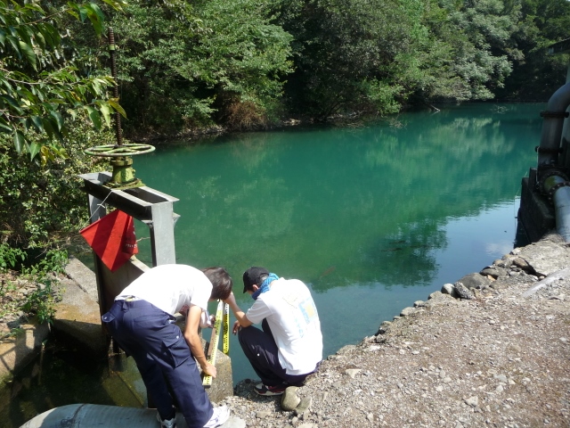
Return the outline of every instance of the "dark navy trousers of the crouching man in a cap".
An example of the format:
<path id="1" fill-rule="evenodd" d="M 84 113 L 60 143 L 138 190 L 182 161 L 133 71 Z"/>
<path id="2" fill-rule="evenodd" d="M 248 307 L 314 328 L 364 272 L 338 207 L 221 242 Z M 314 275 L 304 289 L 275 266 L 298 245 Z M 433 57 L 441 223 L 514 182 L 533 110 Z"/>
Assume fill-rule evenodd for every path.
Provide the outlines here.
<path id="1" fill-rule="evenodd" d="M 309 373 L 287 374 L 279 362 L 279 349 L 266 319 L 261 322 L 261 328 L 263 331 L 249 325 L 238 332 L 241 349 L 261 382 L 267 386 L 302 385 Z"/>

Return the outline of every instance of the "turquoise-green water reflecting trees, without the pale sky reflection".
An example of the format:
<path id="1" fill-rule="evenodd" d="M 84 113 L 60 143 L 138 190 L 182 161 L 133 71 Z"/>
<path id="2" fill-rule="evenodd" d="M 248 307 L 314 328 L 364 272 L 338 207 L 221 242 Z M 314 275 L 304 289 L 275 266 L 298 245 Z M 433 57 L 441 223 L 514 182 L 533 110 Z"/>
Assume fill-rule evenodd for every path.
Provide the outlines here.
<path id="1" fill-rule="evenodd" d="M 517 193 L 540 135 L 540 107 L 523 107 L 247 134 L 155 157 L 167 174 L 153 186 L 181 199 L 179 262 L 265 265 L 317 290 L 428 284 L 447 219 Z"/>

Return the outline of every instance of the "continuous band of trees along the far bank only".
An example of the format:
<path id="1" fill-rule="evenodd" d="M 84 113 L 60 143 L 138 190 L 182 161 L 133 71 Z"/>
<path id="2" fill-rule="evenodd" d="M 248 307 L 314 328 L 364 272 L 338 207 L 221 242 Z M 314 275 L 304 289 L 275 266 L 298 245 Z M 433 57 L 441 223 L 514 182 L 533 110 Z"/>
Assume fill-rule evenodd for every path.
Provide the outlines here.
<path id="1" fill-rule="evenodd" d="M 413 104 L 548 99 L 566 58 L 547 46 L 570 37 L 570 2 L 133 0 L 110 23 L 127 131 L 248 129 Z"/>

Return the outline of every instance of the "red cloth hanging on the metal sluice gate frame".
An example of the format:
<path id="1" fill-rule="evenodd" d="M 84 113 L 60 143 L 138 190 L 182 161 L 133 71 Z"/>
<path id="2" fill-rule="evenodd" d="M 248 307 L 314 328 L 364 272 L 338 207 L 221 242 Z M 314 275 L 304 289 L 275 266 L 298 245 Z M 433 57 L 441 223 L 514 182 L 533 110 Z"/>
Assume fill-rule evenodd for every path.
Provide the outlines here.
<path id="1" fill-rule="evenodd" d="M 111 272 L 139 252 L 133 218 L 121 210 L 114 210 L 79 233 Z"/>

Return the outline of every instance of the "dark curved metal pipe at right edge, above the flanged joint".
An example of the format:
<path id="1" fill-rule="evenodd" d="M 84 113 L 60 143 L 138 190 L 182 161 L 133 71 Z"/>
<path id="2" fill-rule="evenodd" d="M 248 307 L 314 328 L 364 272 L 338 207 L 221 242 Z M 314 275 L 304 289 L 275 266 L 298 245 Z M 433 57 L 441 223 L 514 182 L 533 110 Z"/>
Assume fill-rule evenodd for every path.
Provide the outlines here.
<path id="1" fill-rule="evenodd" d="M 570 82 L 558 88 L 547 104 L 547 111 L 541 113 L 541 145 L 538 147 L 538 167 L 558 164 L 562 128 L 566 118 L 566 109 L 570 105 Z"/>

